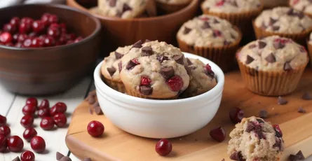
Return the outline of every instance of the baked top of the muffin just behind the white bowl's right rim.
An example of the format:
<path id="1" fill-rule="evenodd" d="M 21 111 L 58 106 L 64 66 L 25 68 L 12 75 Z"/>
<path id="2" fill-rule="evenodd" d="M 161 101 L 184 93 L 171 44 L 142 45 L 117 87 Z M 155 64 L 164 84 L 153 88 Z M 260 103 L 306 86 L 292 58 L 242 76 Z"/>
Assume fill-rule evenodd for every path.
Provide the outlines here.
<path id="1" fill-rule="evenodd" d="M 227 20 L 212 15 L 201 15 L 182 25 L 177 38 L 188 45 L 219 47 L 240 41 L 240 33 Z"/>

